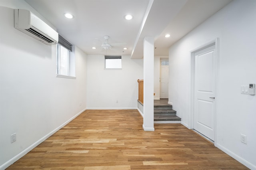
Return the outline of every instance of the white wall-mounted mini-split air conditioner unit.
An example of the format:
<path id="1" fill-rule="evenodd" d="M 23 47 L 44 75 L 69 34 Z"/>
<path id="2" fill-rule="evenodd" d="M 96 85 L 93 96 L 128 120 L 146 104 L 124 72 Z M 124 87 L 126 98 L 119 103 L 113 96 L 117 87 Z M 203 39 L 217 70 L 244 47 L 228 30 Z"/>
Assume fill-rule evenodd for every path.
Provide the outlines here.
<path id="1" fill-rule="evenodd" d="M 47 45 L 58 43 L 58 32 L 28 10 L 14 10 L 14 27 Z"/>

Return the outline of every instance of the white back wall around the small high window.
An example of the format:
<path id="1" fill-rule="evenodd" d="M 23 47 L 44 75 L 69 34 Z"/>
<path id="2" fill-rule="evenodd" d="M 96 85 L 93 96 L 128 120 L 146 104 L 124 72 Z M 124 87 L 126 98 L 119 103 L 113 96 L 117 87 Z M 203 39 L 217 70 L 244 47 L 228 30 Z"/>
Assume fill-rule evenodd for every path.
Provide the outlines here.
<path id="1" fill-rule="evenodd" d="M 143 60 L 122 55 L 121 70 L 104 69 L 104 62 L 104 55 L 87 56 L 87 109 L 137 109 Z"/>

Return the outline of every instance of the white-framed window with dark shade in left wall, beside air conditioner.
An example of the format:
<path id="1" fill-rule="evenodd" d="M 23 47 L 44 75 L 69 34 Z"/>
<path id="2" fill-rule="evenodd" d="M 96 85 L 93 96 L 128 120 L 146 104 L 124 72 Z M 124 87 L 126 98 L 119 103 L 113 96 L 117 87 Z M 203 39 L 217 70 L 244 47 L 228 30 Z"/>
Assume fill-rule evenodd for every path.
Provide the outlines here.
<path id="1" fill-rule="evenodd" d="M 57 77 L 75 77 L 74 53 L 72 44 L 59 36 L 57 45 Z"/>

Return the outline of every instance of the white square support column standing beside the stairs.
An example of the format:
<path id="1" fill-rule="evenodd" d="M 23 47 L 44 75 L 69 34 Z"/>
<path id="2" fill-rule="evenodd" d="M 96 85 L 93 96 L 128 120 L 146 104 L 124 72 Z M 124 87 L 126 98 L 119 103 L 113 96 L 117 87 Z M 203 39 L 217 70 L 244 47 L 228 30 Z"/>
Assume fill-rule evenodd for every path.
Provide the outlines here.
<path id="1" fill-rule="evenodd" d="M 143 129 L 154 131 L 154 37 L 144 38 Z"/>

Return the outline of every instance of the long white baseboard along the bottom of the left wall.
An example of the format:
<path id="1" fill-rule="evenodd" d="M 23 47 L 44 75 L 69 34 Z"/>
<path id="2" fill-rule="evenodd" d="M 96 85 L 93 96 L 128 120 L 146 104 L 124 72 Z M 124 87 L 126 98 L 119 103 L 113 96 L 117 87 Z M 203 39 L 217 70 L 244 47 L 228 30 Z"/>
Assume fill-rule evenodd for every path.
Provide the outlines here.
<path id="1" fill-rule="evenodd" d="M 17 160 L 19 160 L 20 158 L 22 158 L 22 156 L 26 155 L 28 152 L 30 152 L 32 149 L 34 149 L 36 146 L 38 146 L 40 143 L 44 142 L 44 140 L 46 140 L 47 138 L 49 138 L 50 136 L 52 136 L 52 134 L 54 134 L 55 132 L 57 132 L 58 130 L 60 130 L 62 127 L 64 127 L 65 125 L 67 125 L 68 123 L 70 123 L 73 119 L 75 119 L 78 115 L 80 115 L 81 113 L 83 113 L 84 111 L 86 111 L 86 109 L 80 111 L 78 114 L 74 115 L 72 118 L 68 119 L 68 121 L 64 122 L 62 125 L 60 125 L 59 127 L 57 127 L 56 129 L 52 130 L 50 133 L 46 134 L 44 137 L 40 138 L 38 141 L 36 141 L 34 144 L 30 145 L 28 148 L 26 148 L 25 150 L 23 150 L 22 152 L 20 152 L 19 154 L 17 154 L 16 156 L 14 156 L 12 159 L 8 160 L 7 162 L 5 162 L 4 164 L 2 164 L 0 166 L 0 170 L 4 170 L 6 168 L 8 168 L 9 166 L 11 166 L 14 162 L 16 162 Z"/>

